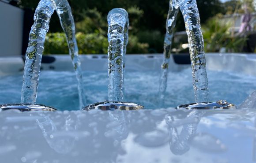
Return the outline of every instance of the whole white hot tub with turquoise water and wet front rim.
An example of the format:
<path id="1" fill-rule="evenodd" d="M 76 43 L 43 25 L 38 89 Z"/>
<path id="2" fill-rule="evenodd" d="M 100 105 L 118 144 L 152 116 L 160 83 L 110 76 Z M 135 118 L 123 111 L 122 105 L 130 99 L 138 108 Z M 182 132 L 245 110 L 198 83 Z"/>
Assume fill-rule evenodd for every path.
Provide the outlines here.
<path id="1" fill-rule="evenodd" d="M 0 163 L 252 163 L 256 111 L 239 108 L 256 90 L 256 55 L 206 54 L 211 101 L 236 110 L 176 110 L 194 101 L 191 68 L 171 59 L 158 103 L 162 55 L 127 55 L 124 100 L 139 111 L 80 111 L 69 56 L 42 63 L 37 103 L 56 112 L 0 112 Z M 81 56 L 87 103 L 107 99 L 107 58 Z M 19 103 L 24 63 L 0 58 L 0 104 Z"/>

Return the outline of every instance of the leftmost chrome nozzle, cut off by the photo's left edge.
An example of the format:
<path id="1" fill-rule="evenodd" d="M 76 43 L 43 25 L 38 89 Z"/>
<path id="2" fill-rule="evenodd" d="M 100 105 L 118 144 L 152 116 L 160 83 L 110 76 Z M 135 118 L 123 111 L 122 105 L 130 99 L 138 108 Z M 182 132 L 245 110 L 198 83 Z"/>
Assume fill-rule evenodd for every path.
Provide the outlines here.
<path id="1" fill-rule="evenodd" d="M 19 111 L 56 111 L 54 107 L 45 106 L 42 104 L 4 104 L 0 105 L 0 111 L 6 110 L 19 110 Z"/>

